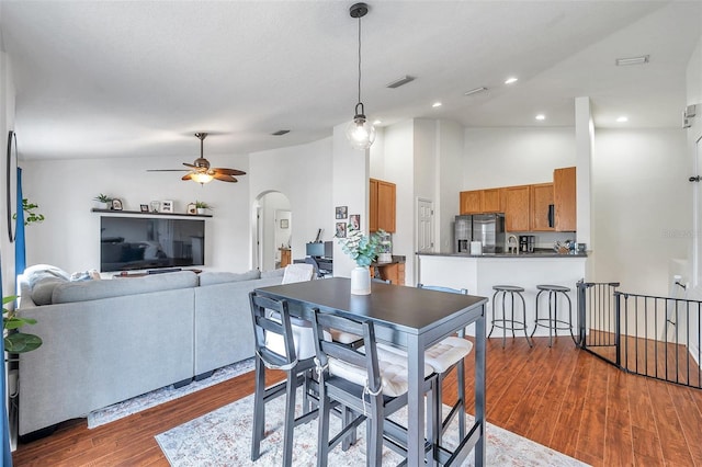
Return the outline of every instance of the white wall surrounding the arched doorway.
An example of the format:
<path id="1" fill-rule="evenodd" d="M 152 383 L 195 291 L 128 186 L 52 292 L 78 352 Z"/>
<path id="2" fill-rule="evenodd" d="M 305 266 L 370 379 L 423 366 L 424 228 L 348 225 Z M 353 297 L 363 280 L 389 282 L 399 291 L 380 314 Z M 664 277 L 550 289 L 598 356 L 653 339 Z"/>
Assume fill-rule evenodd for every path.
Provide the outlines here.
<path id="1" fill-rule="evenodd" d="M 317 229 L 324 229 L 321 240 L 333 239 L 331 137 L 306 145 L 253 152 L 249 168 L 250 203 L 247 213 L 254 209 L 256 200 L 261 194 L 270 191 L 280 192 L 290 200 L 293 259 L 305 258 L 305 243 L 315 240 Z M 254 215 L 251 212 L 251 217 Z"/>

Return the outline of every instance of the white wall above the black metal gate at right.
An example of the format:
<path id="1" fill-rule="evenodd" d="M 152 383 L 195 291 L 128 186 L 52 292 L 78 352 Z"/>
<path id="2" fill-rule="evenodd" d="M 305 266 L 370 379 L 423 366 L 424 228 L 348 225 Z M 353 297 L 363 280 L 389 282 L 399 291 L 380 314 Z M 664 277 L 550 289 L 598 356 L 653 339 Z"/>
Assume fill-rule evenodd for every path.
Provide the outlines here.
<path id="1" fill-rule="evenodd" d="M 592 161 L 592 280 L 666 296 L 669 260 L 692 234 L 682 129 L 597 129 Z"/>

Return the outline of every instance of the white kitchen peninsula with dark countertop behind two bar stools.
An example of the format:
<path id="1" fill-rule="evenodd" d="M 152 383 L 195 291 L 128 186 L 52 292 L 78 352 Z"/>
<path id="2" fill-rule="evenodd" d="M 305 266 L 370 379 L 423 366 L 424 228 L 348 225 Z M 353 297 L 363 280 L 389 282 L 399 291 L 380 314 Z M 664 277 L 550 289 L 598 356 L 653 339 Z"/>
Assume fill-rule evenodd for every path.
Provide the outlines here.
<path id="1" fill-rule="evenodd" d="M 417 253 L 418 277 L 424 285 L 442 285 L 452 288 L 467 288 L 468 294 L 488 297 L 490 303 L 486 307 L 487 331 L 492 319 L 494 285 L 517 285 L 524 287 L 526 301 L 526 328 L 531 334 L 534 329 L 536 285 L 555 284 L 570 287 L 568 296 L 573 303 L 573 332 L 578 335 L 576 283 L 586 275 L 587 254 L 559 254 L 555 251 L 540 251 L 523 254 L 485 254 L 471 255 L 465 253 Z M 542 294 L 540 311 L 542 316 L 548 312 L 547 304 Z M 558 314 L 565 301 L 558 303 Z M 508 301 L 509 306 L 509 301 Z M 543 308 L 542 308 L 543 307 Z M 565 315 L 562 315 L 565 317 Z M 559 331 L 565 335 L 567 331 Z M 474 331 L 468 328 L 468 333 Z M 519 334 L 518 334 L 519 335 Z M 548 330 L 543 327 L 536 329 L 535 337 L 547 337 Z M 501 338 L 502 330 L 496 329 L 492 338 Z M 523 334 L 522 334 L 523 338 Z"/>

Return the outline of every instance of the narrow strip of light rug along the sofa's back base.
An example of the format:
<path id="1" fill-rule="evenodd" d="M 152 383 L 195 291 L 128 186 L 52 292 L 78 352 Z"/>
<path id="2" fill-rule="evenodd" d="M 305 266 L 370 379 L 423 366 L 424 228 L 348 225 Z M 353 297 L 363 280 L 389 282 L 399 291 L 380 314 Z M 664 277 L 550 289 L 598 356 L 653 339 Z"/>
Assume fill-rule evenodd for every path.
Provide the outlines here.
<path id="1" fill-rule="evenodd" d="M 88 414 L 88 428 L 94 429 L 105 423 L 120 420 L 124 417 L 168 402 L 169 400 L 178 399 L 179 397 L 186 396 L 251 371 L 253 371 L 253 358 L 244 360 L 216 369 L 211 377 L 201 379 L 200 381 L 192 381 L 188 386 L 180 388 L 173 388 L 173 385 L 166 386 L 103 409 L 94 410 Z"/>

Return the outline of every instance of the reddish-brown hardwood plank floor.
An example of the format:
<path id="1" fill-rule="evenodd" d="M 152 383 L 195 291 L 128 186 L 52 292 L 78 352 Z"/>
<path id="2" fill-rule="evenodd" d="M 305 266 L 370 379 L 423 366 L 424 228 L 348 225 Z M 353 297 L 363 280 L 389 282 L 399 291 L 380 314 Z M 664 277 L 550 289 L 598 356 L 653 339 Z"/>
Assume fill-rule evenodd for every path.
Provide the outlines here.
<path id="1" fill-rule="evenodd" d="M 702 390 L 623 373 L 570 338 L 535 341 L 489 341 L 489 422 L 595 466 L 702 466 Z M 249 374 L 94 430 L 66 422 L 18 446 L 14 465 L 168 466 L 156 434 L 252 391 Z"/>

